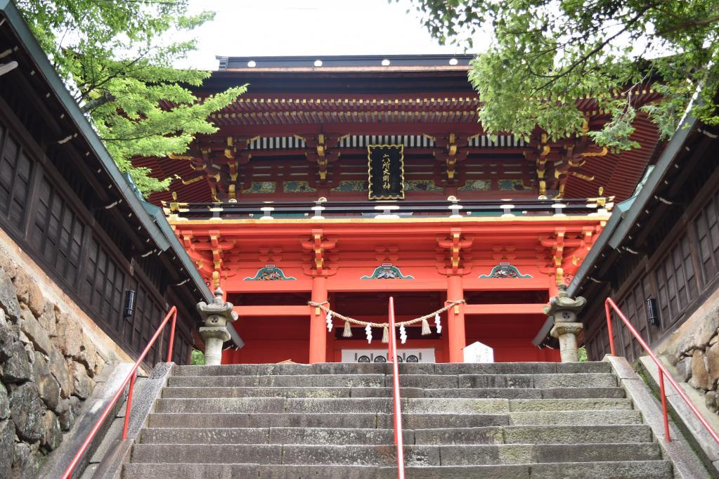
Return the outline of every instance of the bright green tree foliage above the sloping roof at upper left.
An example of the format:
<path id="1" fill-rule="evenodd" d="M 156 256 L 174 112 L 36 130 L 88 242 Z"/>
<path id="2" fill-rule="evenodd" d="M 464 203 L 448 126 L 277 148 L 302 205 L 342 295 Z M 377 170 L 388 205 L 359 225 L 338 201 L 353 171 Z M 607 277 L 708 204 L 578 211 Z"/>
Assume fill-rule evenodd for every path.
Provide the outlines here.
<path id="1" fill-rule="evenodd" d="M 188 0 L 17 0 L 75 100 L 123 172 L 140 191 L 164 190 L 133 157 L 186 151 L 196 134 L 216 127 L 207 118 L 245 87 L 198 98 L 188 88 L 209 72 L 177 70 L 173 62 L 196 47 L 182 39 L 214 14 L 188 14 Z"/>

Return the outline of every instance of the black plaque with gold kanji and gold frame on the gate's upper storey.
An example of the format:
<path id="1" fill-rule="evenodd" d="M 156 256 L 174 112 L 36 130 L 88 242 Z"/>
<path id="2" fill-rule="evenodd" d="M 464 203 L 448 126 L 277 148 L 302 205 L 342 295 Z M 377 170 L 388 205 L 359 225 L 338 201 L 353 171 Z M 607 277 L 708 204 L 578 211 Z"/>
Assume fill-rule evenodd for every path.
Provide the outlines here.
<path id="1" fill-rule="evenodd" d="M 404 200 L 404 145 L 367 146 L 370 200 Z"/>

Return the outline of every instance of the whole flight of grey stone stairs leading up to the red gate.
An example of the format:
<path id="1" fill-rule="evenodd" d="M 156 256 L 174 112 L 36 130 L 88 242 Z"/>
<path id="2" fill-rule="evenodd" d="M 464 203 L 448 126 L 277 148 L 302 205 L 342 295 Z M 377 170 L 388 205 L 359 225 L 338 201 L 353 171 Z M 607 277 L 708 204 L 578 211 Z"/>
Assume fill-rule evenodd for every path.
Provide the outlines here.
<path id="1" fill-rule="evenodd" d="M 395 478 L 388 364 L 175 366 L 124 478 Z M 673 478 L 610 364 L 401 364 L 407 478 Z"/>

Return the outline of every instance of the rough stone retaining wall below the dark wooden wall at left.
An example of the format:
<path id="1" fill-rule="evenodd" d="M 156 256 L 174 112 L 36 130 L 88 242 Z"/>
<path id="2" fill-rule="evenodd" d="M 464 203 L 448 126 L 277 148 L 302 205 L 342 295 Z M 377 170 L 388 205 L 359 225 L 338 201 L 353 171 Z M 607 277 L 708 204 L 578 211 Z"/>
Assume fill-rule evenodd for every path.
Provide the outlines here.
<path id="1" fill-rule="evenodd" d="M 55 299 L 48 288 L 57 286 L 38 284 L 16 259 L 0 247 L 0 478 L 34 478 L 107 358 L 77 306 Z"/>

